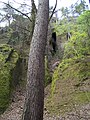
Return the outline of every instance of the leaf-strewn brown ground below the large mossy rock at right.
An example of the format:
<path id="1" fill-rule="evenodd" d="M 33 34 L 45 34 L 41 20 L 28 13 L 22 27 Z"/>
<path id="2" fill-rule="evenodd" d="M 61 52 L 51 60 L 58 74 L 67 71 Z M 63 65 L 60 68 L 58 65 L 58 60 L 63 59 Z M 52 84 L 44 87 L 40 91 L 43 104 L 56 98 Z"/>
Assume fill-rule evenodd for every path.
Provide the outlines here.
<path id="1" fill-rule="evenodd" d="M 50 116 L 46 114 L 44 120 L 90 120 L 90 104 L 84 105 L 64 116 Z"/>

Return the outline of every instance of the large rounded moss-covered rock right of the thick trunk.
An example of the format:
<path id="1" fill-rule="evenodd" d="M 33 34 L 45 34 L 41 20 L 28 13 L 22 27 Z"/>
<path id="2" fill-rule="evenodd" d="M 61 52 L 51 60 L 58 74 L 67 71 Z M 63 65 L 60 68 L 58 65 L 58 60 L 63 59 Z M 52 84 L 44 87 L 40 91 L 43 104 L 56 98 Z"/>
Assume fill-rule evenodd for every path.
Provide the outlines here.
<path id="1" fill-rule="evenodd" d="M 52 115 L 63 115 L 90 103 L 90 56 L 63 60 L 52 77 L 45 101 Z"/>

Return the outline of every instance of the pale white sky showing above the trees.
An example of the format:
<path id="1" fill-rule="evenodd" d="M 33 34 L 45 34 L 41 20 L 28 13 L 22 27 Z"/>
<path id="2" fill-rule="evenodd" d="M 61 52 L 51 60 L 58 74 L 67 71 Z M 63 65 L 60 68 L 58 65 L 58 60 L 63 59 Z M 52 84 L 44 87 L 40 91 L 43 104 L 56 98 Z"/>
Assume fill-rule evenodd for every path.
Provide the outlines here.
<path id="1" fill-rule="evenodd" d="M 31 3 L 30 3 L 31 0 L 0 0 L 0 1 L 6 2 L 6 3 L 8 1 L 10 1 L 10 2 L 14 3 L 12 5 L 15 8 L 18 8 L 19 4 L 16 4 L 14 1 L 16 1 L 17 3 L 23 3 L 23 2 L 25 2 L 25 3 L 27 3 L 28 5 L 31 6 Z M 80 0 L 57 0 L 57 1 L 58 1 L 58 4 L 57 4 L 56 10 L 58 10 L 58 9 L 60 9 L 62 7 L 69 7 L 71 4 L 74 4 L 74 3 L 76 3 L 77 1 L 80 1 Z M 86 4 L 88 4 L 89 8 L 90 8 L 89 0 L 85 0 L 85 1 L 86 1 Z M 56 0 L 49 0 L 49 5 L 54 7 L 55 6 L 55 2 L 56 2 Z M 36 4 L 36 6 L 38 6 L 38 0 L 35 0 L 35 4 Z M 2 6 L 3 5 L 0 3 L 0 8 Z M 60 17 L 60 15 L 61 15 L 61 13 L 58 12 L 57 16 Z M 0 26 L 3 26 L 4 24 L 5 23 L 3 23 L 3 24 L 0 23 Z"/>

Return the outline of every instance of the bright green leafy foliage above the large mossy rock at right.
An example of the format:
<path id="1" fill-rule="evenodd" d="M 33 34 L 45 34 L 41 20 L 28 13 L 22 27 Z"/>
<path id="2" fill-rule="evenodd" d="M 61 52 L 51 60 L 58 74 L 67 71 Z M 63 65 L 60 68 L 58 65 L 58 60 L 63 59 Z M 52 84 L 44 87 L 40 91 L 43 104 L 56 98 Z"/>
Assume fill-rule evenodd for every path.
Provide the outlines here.
<path id="1" fill-rule="evenodd" d="M 77 20 L 77 29 L 72 32 L 71 39 L 65 44 L 64 58 L 90 55 L 90 11 L 85 11 Z M 75 26 L 76 26 L 75 25 Z"/>

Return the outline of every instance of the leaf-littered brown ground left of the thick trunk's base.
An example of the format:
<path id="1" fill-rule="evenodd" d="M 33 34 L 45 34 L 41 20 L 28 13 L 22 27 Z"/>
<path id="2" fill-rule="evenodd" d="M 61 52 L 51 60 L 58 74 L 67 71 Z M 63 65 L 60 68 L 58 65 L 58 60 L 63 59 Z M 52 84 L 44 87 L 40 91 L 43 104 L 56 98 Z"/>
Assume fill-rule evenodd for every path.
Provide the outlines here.
<path id="1" fill-rule="evenodd" d="M 0 116 L 0 120 L 20 120 L 25 101 L 25 91 L 20 88 L 13 93 L 12 103 L 9 108 Z"/>

